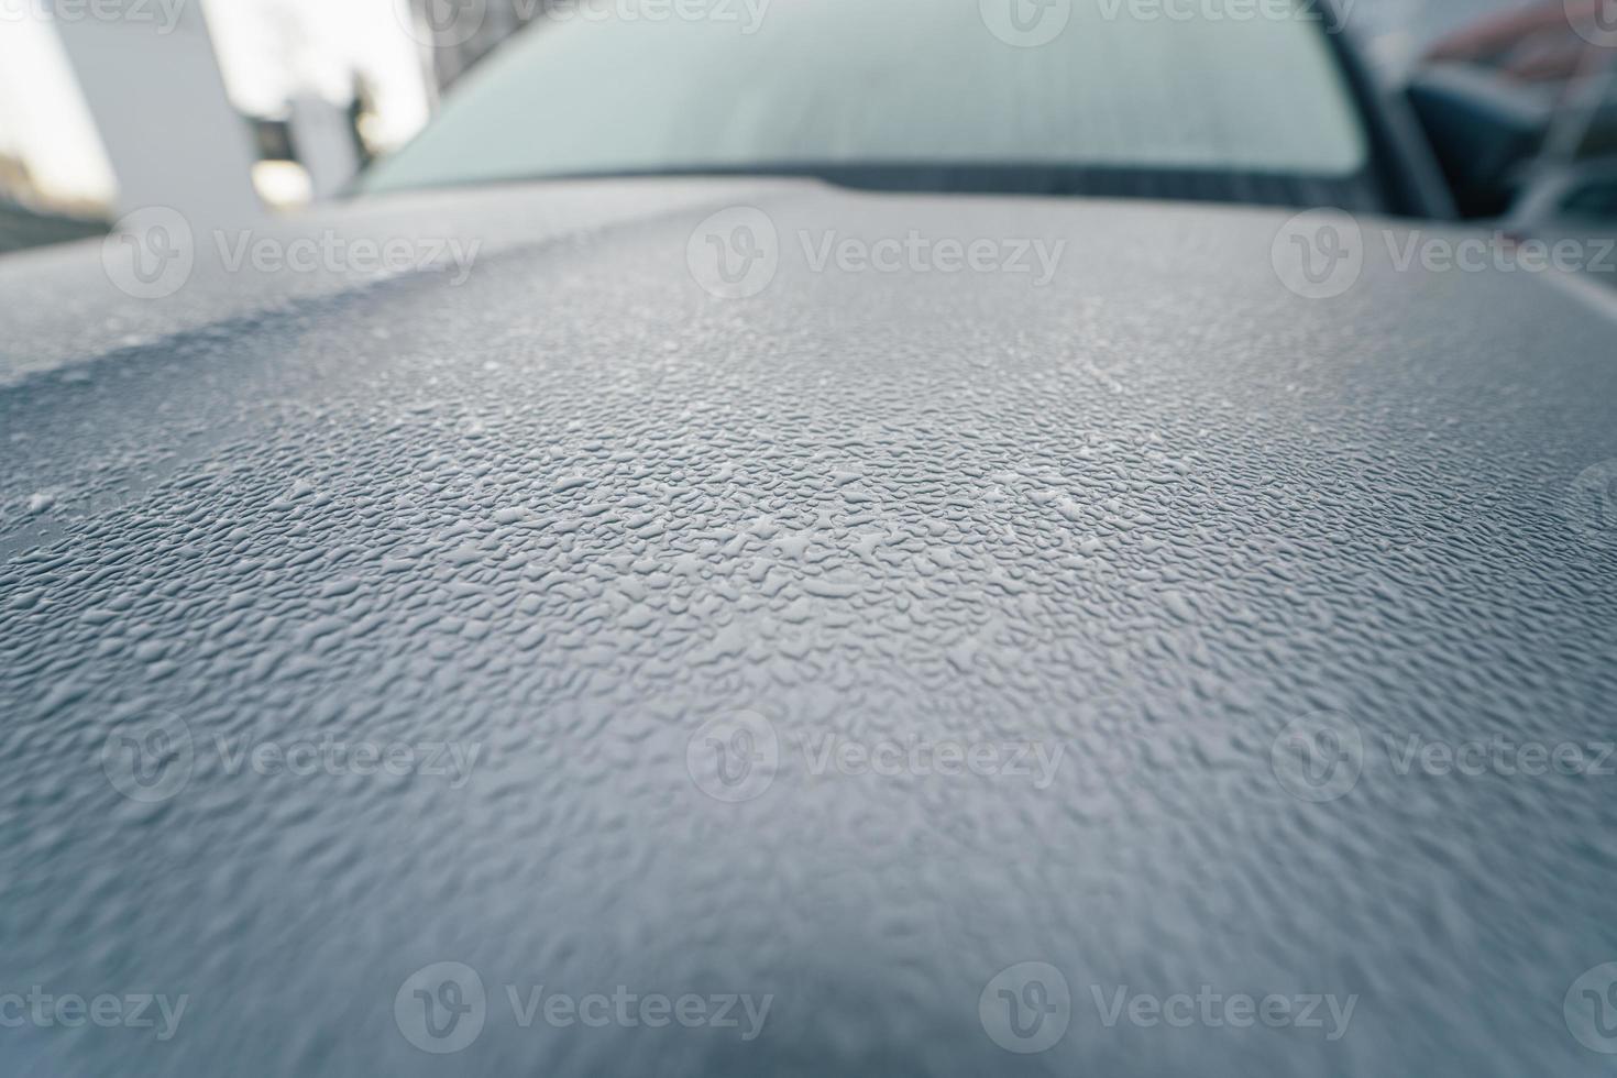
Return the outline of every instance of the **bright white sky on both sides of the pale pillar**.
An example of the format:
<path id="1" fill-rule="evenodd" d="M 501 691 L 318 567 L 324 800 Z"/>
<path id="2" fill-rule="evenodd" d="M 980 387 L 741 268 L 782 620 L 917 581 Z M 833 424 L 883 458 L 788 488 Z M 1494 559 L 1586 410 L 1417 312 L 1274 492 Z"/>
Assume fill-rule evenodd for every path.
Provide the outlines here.
<path id="1" fill-rule="evenodd" d="M 196 3 L 199 0 L 183 0 Z M 351 71 L 377 92 L 380 136 L 396 144 L 427 120 L 406 0 L 205 0 L 225 86 L 247 113 L 275 113 L 298 89 L 344 100 Z M 115 178 L 57 29 L 29 15 L 37 0 L 0 0 L 0 152 L 27 162 L 55 200 L 110 202 Z"/>

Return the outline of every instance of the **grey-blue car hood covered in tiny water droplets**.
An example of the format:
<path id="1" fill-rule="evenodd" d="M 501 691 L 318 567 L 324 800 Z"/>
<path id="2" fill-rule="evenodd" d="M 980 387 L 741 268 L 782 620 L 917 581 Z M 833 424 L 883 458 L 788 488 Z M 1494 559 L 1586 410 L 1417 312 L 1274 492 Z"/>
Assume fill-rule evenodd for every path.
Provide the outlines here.
<path id="1" fill-rule="evenodd" d="M 0 262 L 0 991 L 189 996 L 10 1059 L 1596 1073 L 1614 779 L 1407 748 L 1611 740 L 1612 318 L 1358 225 L 1321 299 L 1284 212 L 762 179 L 249 238 L 475 241 L 464 280 L 205 229 L 163 299 Z M 1064 247 L 854 268 L 912 234 Z M 440 1059 L 445 962 L 482 996 Z M 524 1023 L 538 986 L 773 1002 Z M 1203 989 L 1353 1009 L 1112 1005 Z"/>

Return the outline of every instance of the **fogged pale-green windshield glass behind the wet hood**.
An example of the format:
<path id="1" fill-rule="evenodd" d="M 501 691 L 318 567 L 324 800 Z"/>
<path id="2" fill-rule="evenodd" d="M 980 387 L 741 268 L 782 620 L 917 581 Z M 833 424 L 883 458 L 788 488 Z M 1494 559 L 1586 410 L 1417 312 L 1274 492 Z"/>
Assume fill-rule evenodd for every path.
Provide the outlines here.
<path id="1" fill-rule="evenodd" d="M 1242 19 L 1138 6 L 697 0 L 653 19 L 587 0 L 496 53 L 362 187 L 872 165 L 1366 170 L 1316 5 Z"/>

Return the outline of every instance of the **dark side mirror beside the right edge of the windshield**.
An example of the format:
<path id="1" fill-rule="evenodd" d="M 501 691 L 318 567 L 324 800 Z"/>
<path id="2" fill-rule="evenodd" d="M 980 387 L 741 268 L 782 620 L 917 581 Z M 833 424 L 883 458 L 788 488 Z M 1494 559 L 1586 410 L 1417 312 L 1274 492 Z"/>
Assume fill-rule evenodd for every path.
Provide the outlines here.
<path id="1" fill-rule="evenodd" d="M 1538 154 L 1552 107 L 1463 65 L 1418 71 L 1405 89 L 1463 217 L 1510 208 L 1518 168 Z"/>

